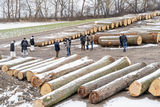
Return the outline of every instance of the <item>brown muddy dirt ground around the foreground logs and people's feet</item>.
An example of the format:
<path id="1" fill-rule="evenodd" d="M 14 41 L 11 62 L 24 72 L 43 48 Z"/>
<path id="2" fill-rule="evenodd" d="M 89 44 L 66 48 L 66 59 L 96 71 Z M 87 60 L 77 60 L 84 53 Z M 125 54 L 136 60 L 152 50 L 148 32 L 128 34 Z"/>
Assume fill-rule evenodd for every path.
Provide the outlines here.
<path id="1" fill-rule="evenodd" d="M 42 35 L 40 35 L 42 36 Z M 27 36 L 29 37 L 29 36 Z M 8 44 L 12 39 L 16 39 L 16 41 L 20 41 L 23 37 L 18 38 L 10 38 L 10 39 L 1 39 L 0 44 Z M 160 61 L 160 45 L 157 46 L 151 46 L 151 47 L 144 47 L 144 48 L 128 48 L 127 52 L 123 52 L 123 49 L 112 49 L 112 48 L 104 48 L 104 47 L 95 47 L 93 50 L 85 50 L 81 51 L 81 49 L 78 47 L 80 45 L 79 39 L 72 41 L 72 47 L 71 47 L 71 53 L 72 54 L 79 54 L 81 57 L 88 56 L 91 59 L 94 59 L 95 61 L 99 60 L 105 55 L 110 55 L 115 59 L 119 59 L 123 56 L 128 56 L 128 58 L 131 60 L 132 64 L 138 63 L 138 62 L 145 62 L 146 64 L 150 64 L 153 62 Z M 19 46 L 16 47 L 16 53 L 17 56 L 21 56 L 20 52 L 21 48 Z M 1 55 L 9 55 L 9 47 L 0 47 L 0 54 Z M 51 58 L 55 57 L 55 51 L 54 46 L 47 46 L 47 47 L 36 47 L 35 52 L 29 52 L 29 56 L 37 57 L 37 58 Z M 66 56 L 66 49 L 65 46 L 61 45 L 60 55 L 59 57 Z M 16 88 L 18 87 L 18 88 Z M 22 104 L 24 102 L 32 102 L 33 99 L 36 99 L 40 97 L 39 89 L 34 88 L 30 85 L 30 83 L 26 81 L 19 81 L 18 79 L 14 77 L 10 77 L 5 73 L 0 72 L 0 94 L 4 93 L 6 90 L 14 90 L 16 88 L 15 92 L 23 92 L 23 95 L 19 97 L 19 103 L 17 104 L 10 104 L 9 107 L 14 107 L 15 105 Z M 106 103 L 108 100 L 114 98 L 124 96 L 129 99 L 135 99 L 128 96 L 128 91 L 123 91 L 99 104 L 93 105 L 90 104 L 88 99 L 80 99 L 80 97 L 76 94 L 72 97 L 60 102 L 59 104 L 72 99 L 72 100 L 78 100 L 78 101 L 84 101 L 87 104 L 87 107 L 103 107 L 104 103 Z M 142 95 L 141 97 L 137 99 L 142 98 L 149 98 L 153 100 L 157 100 L 160 102 L 160 99 L 152 97 L 149 94 Z M 7 104 L 9 97 L 1 97 L 0 98 L 0 104 Z M 58 104 L 57 104 L 58 105 Z"/>

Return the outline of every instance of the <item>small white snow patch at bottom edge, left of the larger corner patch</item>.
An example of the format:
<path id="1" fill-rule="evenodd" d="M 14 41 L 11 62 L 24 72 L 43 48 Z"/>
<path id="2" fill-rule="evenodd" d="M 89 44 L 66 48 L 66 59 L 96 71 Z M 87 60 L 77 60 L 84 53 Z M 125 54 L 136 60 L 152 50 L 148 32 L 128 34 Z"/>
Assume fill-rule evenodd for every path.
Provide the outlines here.
<path id="1" fill-rule="evenodd" d="M 87 107 L 87 104 L 82 101 L 69 100 L 62 104 L 57 105 L 56 107 Z"/>

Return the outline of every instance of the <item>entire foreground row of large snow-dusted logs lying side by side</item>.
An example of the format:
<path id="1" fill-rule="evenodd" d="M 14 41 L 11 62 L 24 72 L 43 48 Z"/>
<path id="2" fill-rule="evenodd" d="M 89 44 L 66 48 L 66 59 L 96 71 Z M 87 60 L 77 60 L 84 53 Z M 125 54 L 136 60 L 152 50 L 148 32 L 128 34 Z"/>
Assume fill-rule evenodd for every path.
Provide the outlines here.
<path id="1" fill-rule="evenodd" d="M 75 54 L 47 60 L 32 57 L 10 59 L 0 65 L 1 68 L 5 66 L 3 72 L 17 70 L 19 74 L 23 71 L 24 77 L 32 71 L 29 81 L 40 87 L 44 95 L 34 102 L 35 107 L 52 106 L 76 92 L 81 98 L 89 97 L 91 103 L 99 103 L 127 87 L 131 96 L 139 96 L 148 89 L 153 96 L 160 96 L 160 62 L 131 65 L 128 57 L 114 61 L 111 56 L 94 62 Z"/>

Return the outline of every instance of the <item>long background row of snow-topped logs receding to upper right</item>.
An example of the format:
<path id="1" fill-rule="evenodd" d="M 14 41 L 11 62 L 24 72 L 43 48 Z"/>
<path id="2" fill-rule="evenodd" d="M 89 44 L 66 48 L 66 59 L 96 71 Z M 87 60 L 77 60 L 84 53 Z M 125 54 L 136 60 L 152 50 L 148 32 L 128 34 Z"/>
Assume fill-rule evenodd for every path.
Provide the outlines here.
<path id="1" fill-rule="evenodd" d="M 155 12 L 148 12 L 143 14 L 129 14 L 122 17 L 108 18 L 105 20 L 96 21 L 95 24 L 87 24 L 87 25 L 85 24 L 85 25 L 80 25 L 78 27 L 75 27 L 74 29 L 70 29 L 69 31 L 65 30 L 64 32 L 61 32 L 61 35 L 60 35 L 61 37 L 58 37 L 59 33 L 57 33 L 57 35 L 55 34 L 55 36 L 58 38 L 50 37 L 50 39 L 47 39 L 47 40 L 42 38 L 42 40 L 39 40 L 39 42 L 36 42 L 35 45 L 42 47 L 42 46 L 54 44 L 57 40 L 59 42 L 63 42 L 66 37 L 69 37 L 71 39 L 77 39 L 83 35 L 95 34 L 96 32 L 102 32 L 102 31 L 118 28 L 121 26 L 127 26 L 134 22 L 137 22 L 140 20 L 148 20 L 159 15 L 160 15 L 160 12 L 155 11 Z M 70 34 L 66 34 L 66 32 Z"/>

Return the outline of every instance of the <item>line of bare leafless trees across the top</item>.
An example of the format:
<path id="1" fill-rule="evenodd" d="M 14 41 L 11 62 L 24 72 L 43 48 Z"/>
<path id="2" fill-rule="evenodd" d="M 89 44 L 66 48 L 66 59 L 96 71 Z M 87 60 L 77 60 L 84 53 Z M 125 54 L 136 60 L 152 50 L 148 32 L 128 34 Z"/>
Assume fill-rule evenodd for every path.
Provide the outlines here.
<path id="1" fill-rule="evenodd" d="M 84 19 L 157 10 L 160 0 L 1 0 L 2 19 Z"/>

